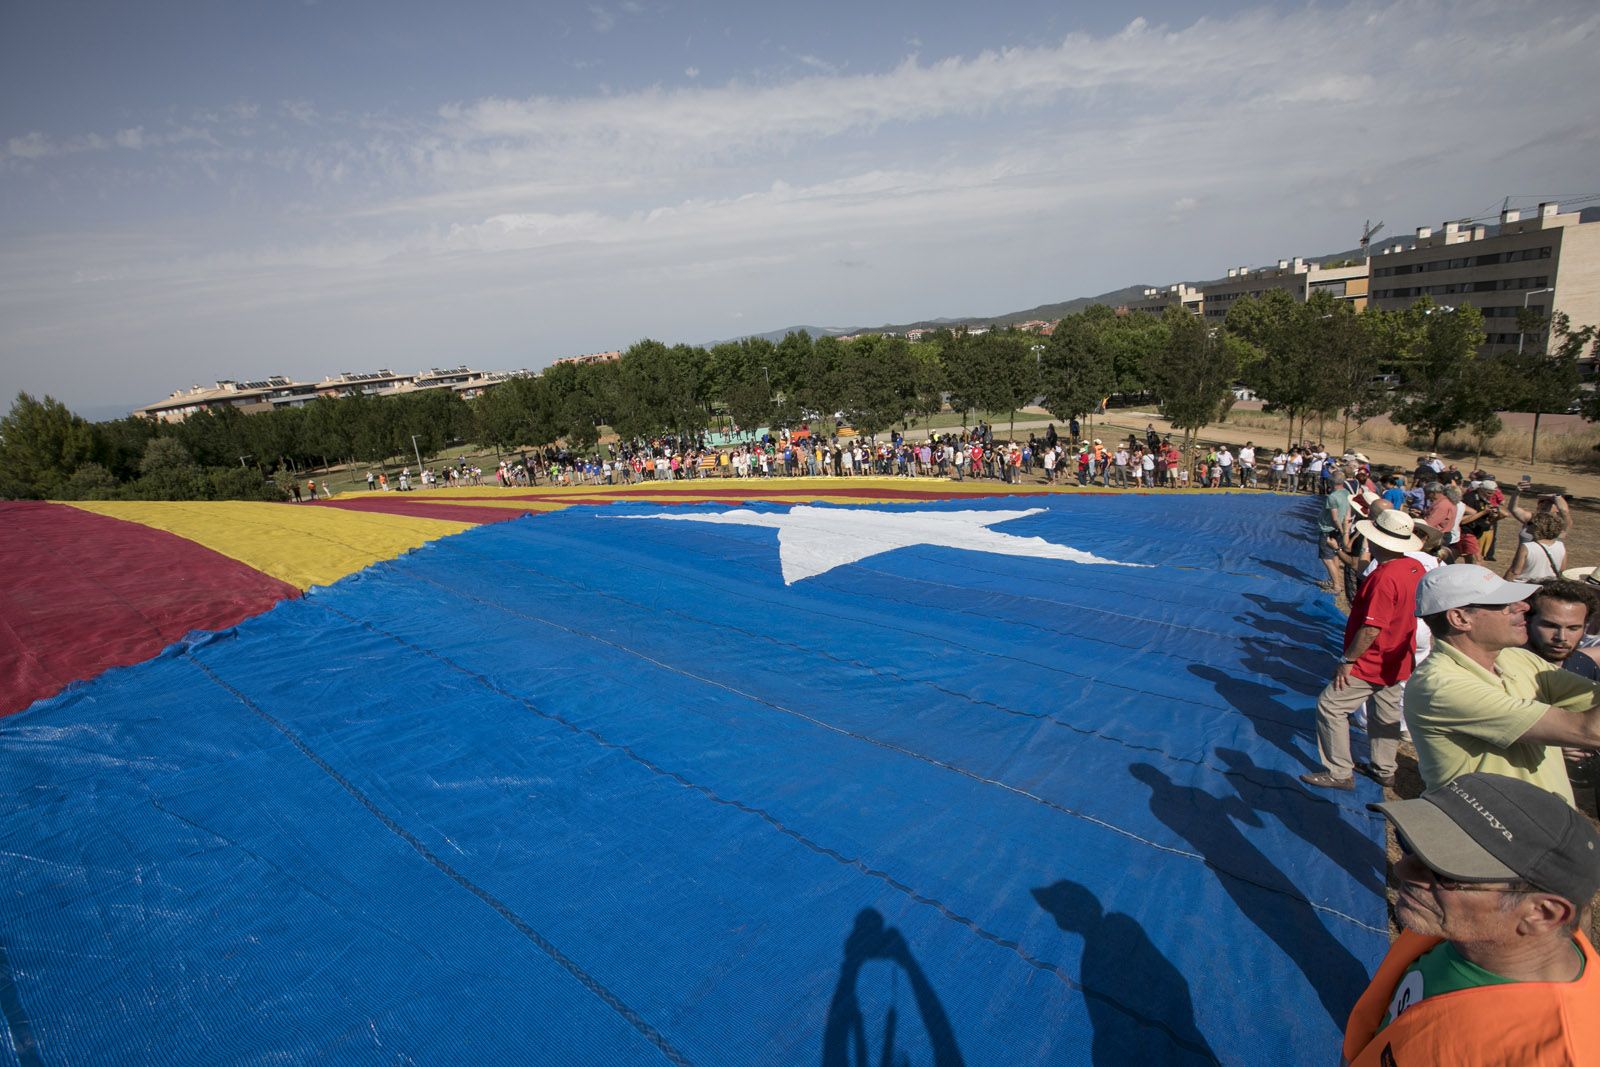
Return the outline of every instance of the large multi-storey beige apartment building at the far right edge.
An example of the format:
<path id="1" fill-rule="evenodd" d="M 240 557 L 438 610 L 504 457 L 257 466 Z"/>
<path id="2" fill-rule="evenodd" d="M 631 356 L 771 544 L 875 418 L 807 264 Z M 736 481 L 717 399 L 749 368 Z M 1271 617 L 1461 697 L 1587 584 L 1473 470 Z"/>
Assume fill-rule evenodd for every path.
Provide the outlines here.
<path id="1" fill-rule="evenodd" d="M 1523 307 L 1544 318 L 1566 312 L 1574 326 L 1600 323 L 1600 221 L 1541 203 L 1526 219 L 1502 211 L 1494 234 L 1467 222 L 1422 226 L 1413 248 L 1373 256 L 1371 288 L 1371 306 L 1382 310 L 1421 296 L 1446 307 L 1472 304 L 1483 314 L 1485 352 L 1544 346 L 1547 331 L 1517 333 Z"/>

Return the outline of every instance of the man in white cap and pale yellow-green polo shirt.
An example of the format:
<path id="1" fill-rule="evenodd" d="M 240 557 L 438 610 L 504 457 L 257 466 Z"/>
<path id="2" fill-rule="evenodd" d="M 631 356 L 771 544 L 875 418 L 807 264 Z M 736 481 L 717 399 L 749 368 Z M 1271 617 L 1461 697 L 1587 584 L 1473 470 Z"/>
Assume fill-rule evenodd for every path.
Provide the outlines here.
<path id="1" fill-rule="evenodd" d="M 1416 590 L 1434 654 L 1406 686 L 1406 721 L 1427 789 L 1472 771 L 1533 782 L 1573 803 L 1562 745 L 1600 747 L 1595 683 L 1528 643 L 1538 590 L 1469 563 L 1442 566 Z"/>

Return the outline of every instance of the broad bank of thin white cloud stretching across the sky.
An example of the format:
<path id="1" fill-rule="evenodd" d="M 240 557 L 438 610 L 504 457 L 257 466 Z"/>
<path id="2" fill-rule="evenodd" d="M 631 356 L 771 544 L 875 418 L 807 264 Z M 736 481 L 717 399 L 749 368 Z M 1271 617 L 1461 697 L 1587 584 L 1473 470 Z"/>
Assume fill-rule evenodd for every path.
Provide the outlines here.
<path id="1" fill-rule="evenodd" d="M 618 10 L 594 5 L 595 29 Z M 787 80 L 24 128 L 0 192 L 131 176 L 192 206 L 0 246 L 0 352 L 48 368 L 138 338 L 198 360 L 232 338 L 275 360 L 347 338 L 520 365 L 530 322 L 560 355 L 710 339 L 728 307 L 752 328 L 994 314 L 1331 251 L 1365 218 L 1437 224 L 1600 173 L 1600 14 L 1512 14 L 1357 0 Z"/>

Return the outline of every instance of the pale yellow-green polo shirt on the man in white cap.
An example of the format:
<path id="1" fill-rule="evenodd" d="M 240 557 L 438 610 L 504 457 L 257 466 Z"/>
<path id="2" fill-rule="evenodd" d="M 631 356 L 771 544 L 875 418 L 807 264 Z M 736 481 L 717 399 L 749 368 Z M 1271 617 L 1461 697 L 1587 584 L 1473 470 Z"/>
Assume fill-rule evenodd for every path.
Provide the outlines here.
<path id="1" fill-rule="evenodd" d="M 1595 683 L 1525 648 L 1502 649 L 1491 673 L 1438 641 L 1405 688 L 1405 718 L 1422 784 L 1437 789 L 1459 774 L 1486 771 L 1520 777 L 1573 803 L 1562 750 L 1518 737 L 1552 704 L 1582 710 L 1595 704 Z"/>

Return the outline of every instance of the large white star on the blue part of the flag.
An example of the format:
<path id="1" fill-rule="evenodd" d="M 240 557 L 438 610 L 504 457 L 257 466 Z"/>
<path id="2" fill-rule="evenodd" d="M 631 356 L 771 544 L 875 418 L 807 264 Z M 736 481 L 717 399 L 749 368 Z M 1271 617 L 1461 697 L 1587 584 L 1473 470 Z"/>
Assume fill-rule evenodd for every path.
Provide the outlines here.
<path id="1" fill-rule="evenodd" d="M 1070 549 L 1043 537 L 1019 537 L 989 530 L 994 525 L 1038 515 L 1043 507 L 1024 512 L 878 512 L 870 509 L 797 506 L 787 512 L 738 509 L 706 515 L 618 515 L 616 518 L 659 518 L 664 522 L 766 526 L 778 531 L 778 560 L 784 585 L 826 574 L 835 566 L 856 563 L 880 552 L 930 544 L 968 552 L 1019 555 L 1029 560 L 1069 560 L 1110 566 L 1150 566 L 1106 560 L 1082 549 Z"/>

